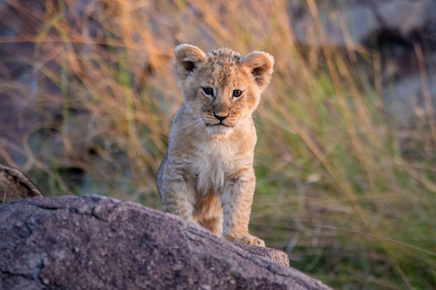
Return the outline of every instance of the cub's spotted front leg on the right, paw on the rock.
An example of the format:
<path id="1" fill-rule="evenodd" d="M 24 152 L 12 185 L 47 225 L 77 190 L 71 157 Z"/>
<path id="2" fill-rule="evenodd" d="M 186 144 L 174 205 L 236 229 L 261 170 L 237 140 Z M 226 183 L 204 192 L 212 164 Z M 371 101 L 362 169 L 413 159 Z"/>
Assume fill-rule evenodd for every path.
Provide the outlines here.
<path id="1" fill-rule="evenodd" d="M 223 235 L 229 241 L 265 247 L 265 242 L 248 234 L 256 176 L 253 168 L 226 181 L 221 194 L 224 222 Z"/>

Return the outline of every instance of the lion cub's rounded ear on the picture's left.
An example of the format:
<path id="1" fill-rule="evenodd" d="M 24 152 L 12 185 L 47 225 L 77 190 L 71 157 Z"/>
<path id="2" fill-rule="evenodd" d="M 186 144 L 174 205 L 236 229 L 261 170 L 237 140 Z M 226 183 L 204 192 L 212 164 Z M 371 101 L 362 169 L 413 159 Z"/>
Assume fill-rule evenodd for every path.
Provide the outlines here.
<path id="1" fill-rule="evenodd" d="M 180 44 L 174 49 L 175 74 L 184 81 L 200 63 L 206 60 L 206 53 L 197 46 Z"/>

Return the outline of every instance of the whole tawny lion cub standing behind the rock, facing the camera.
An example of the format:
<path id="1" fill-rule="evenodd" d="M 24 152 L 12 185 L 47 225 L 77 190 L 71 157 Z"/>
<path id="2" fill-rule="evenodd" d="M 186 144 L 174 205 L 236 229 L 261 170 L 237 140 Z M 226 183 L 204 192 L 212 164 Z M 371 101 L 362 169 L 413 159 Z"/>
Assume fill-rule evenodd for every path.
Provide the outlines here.
<path id="1" fill-rule="evenodd" d="M 248 234 L 256 184 L 252 113 L 270 82 L 274 58 L 228 48 L 205 53 L 181 44 L 174 65 L 184 102 L 157 178 L 163 210 L 227 240 L 265 246 Z"/>

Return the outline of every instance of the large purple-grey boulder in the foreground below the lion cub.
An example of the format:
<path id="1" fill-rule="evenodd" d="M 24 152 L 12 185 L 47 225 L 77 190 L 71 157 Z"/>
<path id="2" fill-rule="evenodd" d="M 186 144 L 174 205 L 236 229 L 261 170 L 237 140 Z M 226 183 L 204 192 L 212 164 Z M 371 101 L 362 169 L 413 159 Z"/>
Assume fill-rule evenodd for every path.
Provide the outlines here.
<path id="1" fill-rule="evenodd" d="M 100 196 L 0 205 L 0 232 L 0 289 L 328 289 L 196 224 Z"/>

